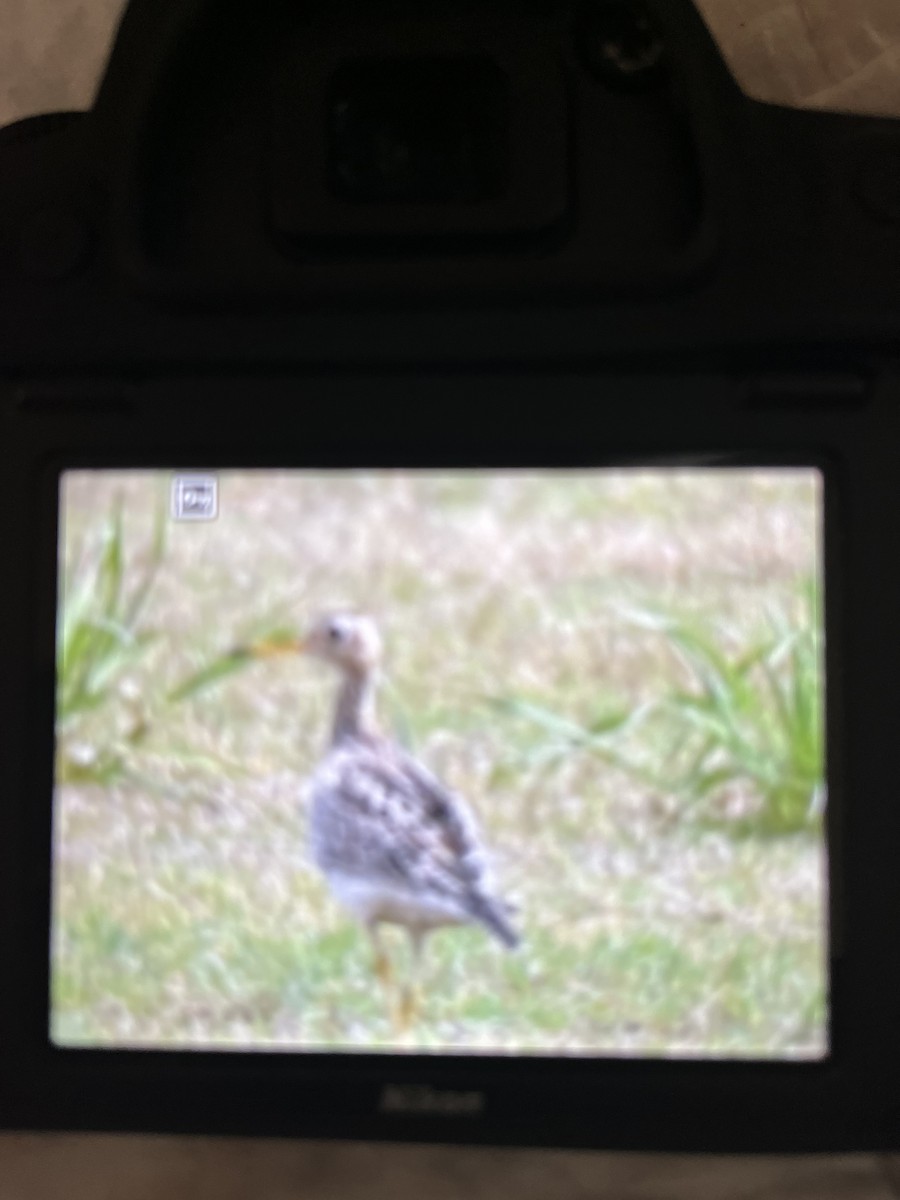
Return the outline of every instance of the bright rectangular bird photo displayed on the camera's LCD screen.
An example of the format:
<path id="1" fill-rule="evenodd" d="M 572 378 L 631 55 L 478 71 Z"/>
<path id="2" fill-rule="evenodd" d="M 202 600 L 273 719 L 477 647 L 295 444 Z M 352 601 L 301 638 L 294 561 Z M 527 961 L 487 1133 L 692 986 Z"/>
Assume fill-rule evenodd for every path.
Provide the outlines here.
<path id="1" fill-rule="evenodd" d="M 52 1039 L 826 1056 L 822 497 L 64 473 Z"/>

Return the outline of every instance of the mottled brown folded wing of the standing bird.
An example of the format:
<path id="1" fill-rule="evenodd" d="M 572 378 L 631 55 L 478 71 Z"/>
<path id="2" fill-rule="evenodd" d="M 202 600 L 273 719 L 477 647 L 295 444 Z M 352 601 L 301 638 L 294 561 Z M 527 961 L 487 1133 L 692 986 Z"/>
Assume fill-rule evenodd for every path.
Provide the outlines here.
<path id="1" fill-rule="evenodd" d="M 313 850 L 324 870 L 368 877 L 470 907 L 485 864 L 461 797 L 398 748 L 329 755 L 313 779 Z"/>

